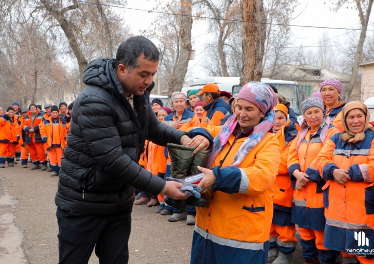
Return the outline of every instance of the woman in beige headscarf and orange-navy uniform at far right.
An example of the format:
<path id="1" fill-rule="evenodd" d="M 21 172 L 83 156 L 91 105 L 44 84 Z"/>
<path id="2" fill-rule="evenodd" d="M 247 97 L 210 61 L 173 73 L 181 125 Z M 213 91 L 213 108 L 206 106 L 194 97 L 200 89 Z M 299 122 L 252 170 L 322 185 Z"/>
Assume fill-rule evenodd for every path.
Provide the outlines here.
<path id="1" fill-rule="evenodd" d="M 357 263 L 356 257 L 374 263 L 374 128 L 361 102 L 347 103 L 342 117 L 344 132 L 327 140 L 317 156 L 327 180 L 324 246 L 342 251 L 344 263 Z"/>

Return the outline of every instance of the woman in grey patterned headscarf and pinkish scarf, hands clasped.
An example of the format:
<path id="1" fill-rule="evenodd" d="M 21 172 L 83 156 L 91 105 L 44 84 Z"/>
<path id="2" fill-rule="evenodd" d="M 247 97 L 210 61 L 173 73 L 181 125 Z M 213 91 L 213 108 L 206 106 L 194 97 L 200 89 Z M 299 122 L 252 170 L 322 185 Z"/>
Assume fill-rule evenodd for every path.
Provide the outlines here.
<path id="1" fill-rule="evenodd" d="M 304 120 L 288 153 L 288 173 L 295 187 L 291 221 L 298 225 L 305 263 L 335 263 L 337 252 L 323 246 L 325 214 L 316 156 L 326 140 L 339 131 L 330 125 L 323 101 L 311 97 L 301 105 Z"/>

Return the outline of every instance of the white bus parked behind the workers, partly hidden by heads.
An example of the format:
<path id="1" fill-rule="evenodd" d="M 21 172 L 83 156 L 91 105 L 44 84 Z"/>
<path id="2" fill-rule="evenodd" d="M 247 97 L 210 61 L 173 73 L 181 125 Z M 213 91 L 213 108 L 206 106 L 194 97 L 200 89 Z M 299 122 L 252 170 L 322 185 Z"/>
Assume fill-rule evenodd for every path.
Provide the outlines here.
<path id="1" fill-rule="evenodd" d="M 288 102 L 290 102 L 290 107 L 293 108 L 298 119 L 302 119 L 301 101 L 297 82 L 271 80 L 266 78 L 261 79 L 261 82 L 275 86 L 275 88 L 278 89 L 278 93 L 282 94 L 286 97 Z M 215 83 L 220 88 L 220 91 L 227 91 L 232 95 L 239 93 L 241 89 L 239 77 L 208 77 L 194 79 L 191 86 L 182 88 L 182 92 L 187 95 L 192 89 L 201 90 L 207 83 Z"/>

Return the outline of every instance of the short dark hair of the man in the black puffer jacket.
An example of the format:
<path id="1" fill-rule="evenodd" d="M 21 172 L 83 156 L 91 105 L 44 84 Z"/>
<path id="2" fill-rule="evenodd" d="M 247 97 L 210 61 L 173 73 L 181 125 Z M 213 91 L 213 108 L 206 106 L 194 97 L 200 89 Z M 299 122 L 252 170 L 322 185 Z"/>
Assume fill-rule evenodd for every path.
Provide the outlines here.
<path id="1" fill-rule="evenodd" d="M 125 65 L 130 73 L 133 68 L 139 66 L 138 58 L 144 55 L 144 59 L 156 62 L 159 60 L 160 52 L 152 41 L 142 36 L 135 36 L 119 44 L 115 55 L 115 70 L 120 64 Z"/>

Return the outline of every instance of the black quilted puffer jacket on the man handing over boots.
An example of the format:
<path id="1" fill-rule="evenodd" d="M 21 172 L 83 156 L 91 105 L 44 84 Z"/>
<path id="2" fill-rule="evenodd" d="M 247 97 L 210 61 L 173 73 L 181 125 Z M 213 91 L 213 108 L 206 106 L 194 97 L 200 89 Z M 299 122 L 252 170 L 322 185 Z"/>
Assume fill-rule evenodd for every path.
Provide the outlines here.
<path id="1" fill-rule="evenodd" d="M 157 120 L 149 102 L 154 84 L 134 96 L 135 116 L 114 62 L 97 59 L 85 70 L 87 87 L 74 102 L 55 198 L 63 210 L 114 214 L 132 205 L 133 187 L 158 194 L 165 181 L 137 164 L 144 141 L 179 144 L 185 134 Z"/>

